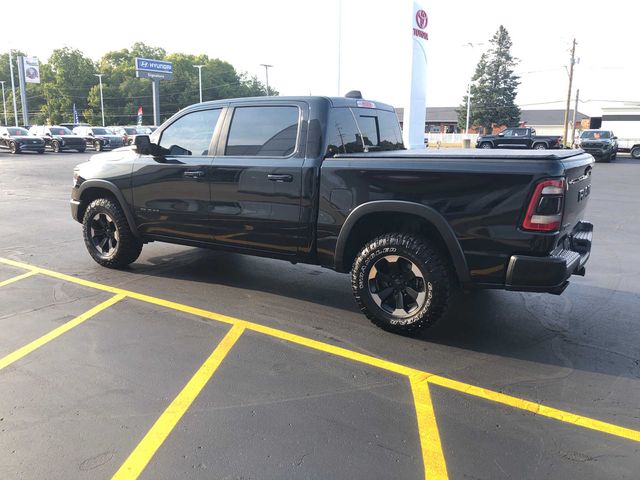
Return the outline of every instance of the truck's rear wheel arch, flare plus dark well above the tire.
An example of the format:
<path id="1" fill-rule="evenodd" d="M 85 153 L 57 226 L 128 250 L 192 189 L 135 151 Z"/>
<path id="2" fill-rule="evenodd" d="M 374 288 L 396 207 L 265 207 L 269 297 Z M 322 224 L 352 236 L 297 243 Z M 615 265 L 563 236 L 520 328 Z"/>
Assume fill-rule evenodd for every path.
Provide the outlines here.
<path id="1" fill-rule="evenodd" d="M 368 202 L 349 214 L 336 243 L 336 271 L 348 272 L 358 251 L 367 241 L 398 229 L 420 233 L 435 241 L 448 254 L 458 281 L 461 284 L 470 281 L 462 247 L 444 217 L 426 205 L 400 200 Z"/>

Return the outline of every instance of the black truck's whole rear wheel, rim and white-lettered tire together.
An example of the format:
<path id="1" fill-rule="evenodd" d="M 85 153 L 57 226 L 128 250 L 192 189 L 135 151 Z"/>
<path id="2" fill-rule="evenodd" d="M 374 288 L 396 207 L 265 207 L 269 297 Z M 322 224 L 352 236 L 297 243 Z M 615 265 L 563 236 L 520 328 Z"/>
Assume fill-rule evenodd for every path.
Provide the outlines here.
<path id="1" fill-rule="evenodd" d="M 446 257 L 425 238 L 390 233 L 360 251 L 351 286 L 360 309 L 375 325 L 411 335 L 444 315 L 453 282 Z"/>

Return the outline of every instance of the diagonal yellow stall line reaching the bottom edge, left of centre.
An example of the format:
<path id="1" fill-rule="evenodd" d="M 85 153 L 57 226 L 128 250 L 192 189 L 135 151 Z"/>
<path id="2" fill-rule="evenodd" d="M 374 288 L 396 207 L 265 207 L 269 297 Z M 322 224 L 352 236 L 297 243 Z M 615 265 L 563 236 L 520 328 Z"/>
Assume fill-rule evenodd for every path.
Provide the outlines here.
<path id="1" fill-rule="evenodd" d="M 158 448 L 164 443 L 193 401 L 211 379 L 224 358 L 231 351 L 240 338 L 240 335 L 242 335 L 242 332 L 244 332 L 244 328 L 239 325 L 234 325 L 231 330 L 229 330 L 209 358 L 207 358 L 193 377 L 191 377 L 191 380 L 189 380 L 164 413 L 156 420 L 151 430 L 147 432 L 138 446 L 131 452 L 131 455 L 125 460 L 112 479 L 130 480 L 138 478 Z"/>

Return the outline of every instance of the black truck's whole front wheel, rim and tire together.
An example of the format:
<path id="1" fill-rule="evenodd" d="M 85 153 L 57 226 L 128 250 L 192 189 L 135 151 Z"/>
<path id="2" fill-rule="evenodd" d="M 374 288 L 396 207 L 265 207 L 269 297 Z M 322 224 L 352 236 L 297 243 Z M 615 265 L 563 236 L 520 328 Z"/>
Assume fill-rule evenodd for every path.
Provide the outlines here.
<path id="1" fill-rule="evenodd" d="M 126 267 L 142 251 L 142 242 L 133 235 L 124 212 L 109 198 L 98 198 L 89 204 L 82 233 L 89 254 L 103 267 Z"/>

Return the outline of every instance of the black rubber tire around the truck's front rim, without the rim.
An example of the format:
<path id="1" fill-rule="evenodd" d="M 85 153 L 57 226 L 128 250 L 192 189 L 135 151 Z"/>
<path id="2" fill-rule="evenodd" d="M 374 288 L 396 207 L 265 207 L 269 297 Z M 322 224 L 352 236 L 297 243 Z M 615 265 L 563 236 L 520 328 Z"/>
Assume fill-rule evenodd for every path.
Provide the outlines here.
<path id="1" fill-rule="evenodd" d="M 117 231 L 117 243 L 109 255 L 101 254 L 92 238 L 92 222 L 96 216 L 108 218 Z M 94 231 L 95 232 L 95 231 Z M 107 268 L 123 268 L 136 261 L 142 251 L 142 242 L 138 240 L 127 223 L 122 208 L 109 198 L 98 198 L 92 201 L 82 219 L 82 235 L 91 257 Z"/>

